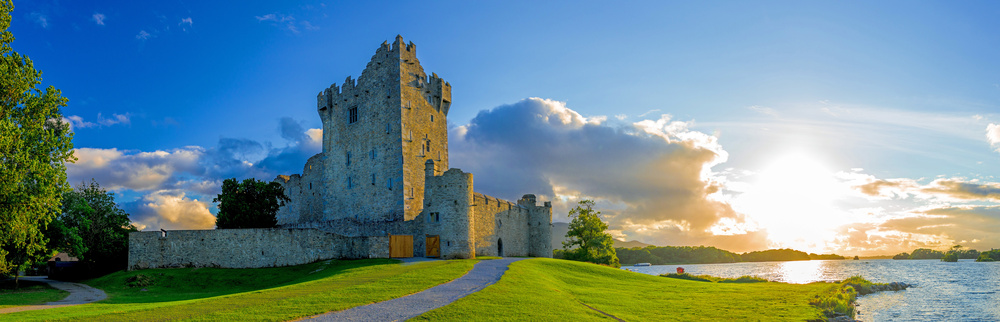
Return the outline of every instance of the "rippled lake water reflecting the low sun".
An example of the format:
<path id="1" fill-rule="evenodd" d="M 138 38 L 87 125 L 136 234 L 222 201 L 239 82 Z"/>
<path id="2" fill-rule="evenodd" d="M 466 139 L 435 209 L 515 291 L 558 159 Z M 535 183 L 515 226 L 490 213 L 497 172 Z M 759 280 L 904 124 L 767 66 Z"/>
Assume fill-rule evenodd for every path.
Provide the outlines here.
<path id="1" fill-rule="evenodd" d="M 837 281 L 861 275 L 878 282 L 913 284 L 904 291 L 878 292 L 858 298 L 857 319 L 863 321 L 1000 321 L 1000 262 L 958 263 L 940 260 L 814 260 L 698 265 L 625 266 L 659 275 L 677 267 L 694 275 L 760 276 L 786 283 Z"/>

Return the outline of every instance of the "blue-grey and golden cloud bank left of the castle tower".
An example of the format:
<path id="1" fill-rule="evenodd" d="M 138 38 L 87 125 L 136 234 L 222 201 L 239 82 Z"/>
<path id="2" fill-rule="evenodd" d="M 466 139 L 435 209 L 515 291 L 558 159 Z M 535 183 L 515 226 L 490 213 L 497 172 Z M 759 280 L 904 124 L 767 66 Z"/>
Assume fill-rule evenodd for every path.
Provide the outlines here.
<path id="1" fill-rule="evenodd" d="M 143 229 L 207 229 L 215 222 L 208 201 L 220 192 L 222 180 L 269 181 L 278 174 L 300 173 L 306 160 L 320 152 L 320 129 L 307 130 L 285 118 L 279 133 L 288 140 L 280 148 L 233 138 L 222 138 L 212 148 L 152 152 L 77 148 L 78 160 L 67 164 L 66 172 L 73 184 L 94 179 L 122 195 L 138 193 L 138 200 L 124 203 Z"/>

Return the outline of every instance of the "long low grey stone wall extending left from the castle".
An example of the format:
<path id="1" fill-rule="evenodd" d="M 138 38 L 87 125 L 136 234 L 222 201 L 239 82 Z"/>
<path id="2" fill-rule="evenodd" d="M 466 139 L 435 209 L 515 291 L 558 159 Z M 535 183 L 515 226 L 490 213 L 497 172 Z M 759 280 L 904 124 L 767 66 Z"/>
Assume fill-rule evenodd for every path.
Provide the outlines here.
<path id="1" fill-rule="evenodd" d="M 388 236 L 282 228 L 171 230 L 130 233 L 128 267 L 259 268 L 388 257 Z"/>

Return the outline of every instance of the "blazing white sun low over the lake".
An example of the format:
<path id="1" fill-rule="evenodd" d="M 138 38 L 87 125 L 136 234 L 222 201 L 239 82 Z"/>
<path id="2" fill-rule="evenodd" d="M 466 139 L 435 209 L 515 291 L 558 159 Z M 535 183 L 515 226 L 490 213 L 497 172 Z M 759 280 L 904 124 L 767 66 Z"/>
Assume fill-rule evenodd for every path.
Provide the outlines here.
<path id="1" fill-rule="evenodd" d="M 835 207 L 844 189 L 819 158 L 789 153 L 758 171 L 733 208 L 766 230 L 772 247 L 821 252 L 834 229 L 846 223 Z"/>

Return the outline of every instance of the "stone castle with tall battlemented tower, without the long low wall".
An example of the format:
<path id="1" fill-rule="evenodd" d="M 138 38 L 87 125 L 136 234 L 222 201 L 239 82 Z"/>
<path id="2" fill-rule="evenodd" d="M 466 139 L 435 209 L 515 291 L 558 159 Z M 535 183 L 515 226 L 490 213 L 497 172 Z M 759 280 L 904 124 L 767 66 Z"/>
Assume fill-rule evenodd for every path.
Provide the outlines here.
<path id="1" fill-rule="evenodd" d="M 436 236 L 445 258 L 551 257 L 548 202 L 476 193 L 471 173 L 448 168 L 451 85 L 424 72 L 416 49 L 383 42 L 357 80 L 317 95 L 323 152 L 276 179 L 292 199 L 279 226 L 412 236 L 415 256 L 436 255 Z"/>

